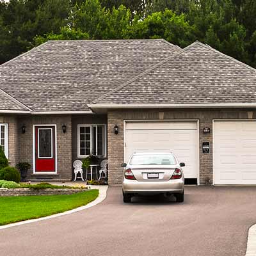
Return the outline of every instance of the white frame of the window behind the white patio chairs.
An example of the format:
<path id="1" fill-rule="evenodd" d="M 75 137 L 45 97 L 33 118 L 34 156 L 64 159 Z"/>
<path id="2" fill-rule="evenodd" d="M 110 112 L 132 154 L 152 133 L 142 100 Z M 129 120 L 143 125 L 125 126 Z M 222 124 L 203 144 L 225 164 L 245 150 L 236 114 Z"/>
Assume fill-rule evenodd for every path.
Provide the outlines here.
<path id="1" fill-rule="evenodd" d="M 77 124 L 77 157 L 78 158 L 86 158 L 89 155 L 81 155 L 80 154 L 80 127 L 90 127 L 90 154 L 92 154 L 93 150 L 93 127 L 103 126 L 104 127 L 104 155 L 102 157 L 107 156 L 107 125 L 106 124 Z M 97 131 L 97 128 L 96 128 Z M 96 145 L 97 145 L 97 137 L 96 137 Z M 101 156 L 101 155 L 100 155 Z"/>

